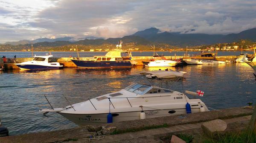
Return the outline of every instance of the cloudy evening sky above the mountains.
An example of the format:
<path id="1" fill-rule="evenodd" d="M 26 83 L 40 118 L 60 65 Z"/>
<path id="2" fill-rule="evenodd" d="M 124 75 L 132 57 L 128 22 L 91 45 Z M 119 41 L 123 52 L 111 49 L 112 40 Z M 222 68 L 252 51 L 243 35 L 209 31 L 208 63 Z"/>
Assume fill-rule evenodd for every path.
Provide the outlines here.
<path id="1" fill-rule="evenodd" d="M 146 28 L 230 34 L 256 27 L 256 0 L 0 0 L 0 43 L 122 37 Z"/>

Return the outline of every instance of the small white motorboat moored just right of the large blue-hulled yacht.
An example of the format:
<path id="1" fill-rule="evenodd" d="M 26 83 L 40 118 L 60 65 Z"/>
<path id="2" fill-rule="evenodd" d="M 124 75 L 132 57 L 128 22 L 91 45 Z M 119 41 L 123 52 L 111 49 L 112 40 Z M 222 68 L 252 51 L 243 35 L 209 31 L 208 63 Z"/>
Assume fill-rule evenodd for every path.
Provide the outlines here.
<path id="1" fill-rule="evenodd" d="M 150 61 L 147 65 L 145 65 L 145 67 L 174 67 L 177 64 L 177 61 L 156 59 L 154 61 Z"/>

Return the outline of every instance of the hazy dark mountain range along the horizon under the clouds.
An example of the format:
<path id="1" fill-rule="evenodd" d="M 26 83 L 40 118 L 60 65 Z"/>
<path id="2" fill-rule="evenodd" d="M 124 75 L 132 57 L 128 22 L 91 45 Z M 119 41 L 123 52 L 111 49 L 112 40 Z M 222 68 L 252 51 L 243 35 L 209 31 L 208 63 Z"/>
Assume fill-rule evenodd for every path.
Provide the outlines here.
<path id="1" fill-rule="evenodd" d="M 161 32 L 157 28 L 148 28 L 143 31 L 124 36 L 122 38 L 108 38 L 87 36 L 83 38 L 61 37 L 56 39 L 40 38 L 32 41 L 21 40 L 18 42 L 6 42 L 9 45 L 29 45 L 35 44 L 41 46 L 61 46 L 69 44 L 81 45 L 102 45 L 117 44 L 119 40 L 124 43 L 134 42 L 137 45 L 148 45 L 152 43 L 169 44 L 173 46 L 184 47 L 195 45 L 211 45 L 215 43 L 235 42 L 241 39 L 247 39 L 256 42 L 256 28 L 241 31 L 238 34 L 181 34 L 178 32 Z"/>

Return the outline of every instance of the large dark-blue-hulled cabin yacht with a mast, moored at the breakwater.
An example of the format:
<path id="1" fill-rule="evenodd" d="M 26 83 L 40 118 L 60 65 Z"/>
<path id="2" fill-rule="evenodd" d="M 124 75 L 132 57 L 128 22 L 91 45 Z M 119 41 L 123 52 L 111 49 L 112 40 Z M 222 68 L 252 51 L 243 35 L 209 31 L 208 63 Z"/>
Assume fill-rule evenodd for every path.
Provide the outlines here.
<path id="1" fill-rule="evenodd" d="M 109 51 L 105 56 L 93 56 L 92 58 L 73 58 L 71 61 L 77 67 L 101 68 L 101 67 L 131 67 L 131 52 L 123 51 L 122 41 L 116 45 L 116 49 Z"/>

